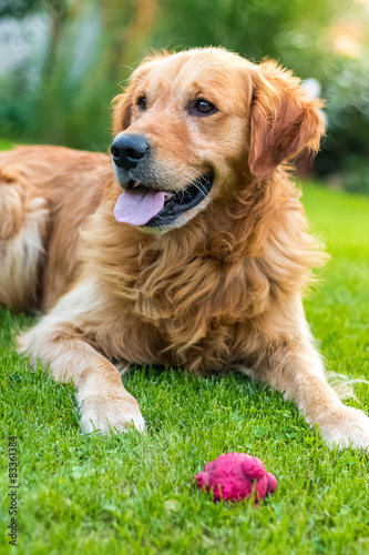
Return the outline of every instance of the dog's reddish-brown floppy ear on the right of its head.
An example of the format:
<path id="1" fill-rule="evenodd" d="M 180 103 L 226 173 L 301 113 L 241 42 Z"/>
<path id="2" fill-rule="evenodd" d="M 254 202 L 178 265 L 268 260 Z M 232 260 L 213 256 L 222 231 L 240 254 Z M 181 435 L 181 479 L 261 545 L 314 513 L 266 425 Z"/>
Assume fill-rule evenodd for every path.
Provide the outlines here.
<path id="1" fill-rule="evenodd" d="M 319 149 L 322 102 L 304 91 L 300 80 L 276 62 L 255 68 L 248 164 L 257 180 L 270 178 L 284 161 L 308 148 Z"/>

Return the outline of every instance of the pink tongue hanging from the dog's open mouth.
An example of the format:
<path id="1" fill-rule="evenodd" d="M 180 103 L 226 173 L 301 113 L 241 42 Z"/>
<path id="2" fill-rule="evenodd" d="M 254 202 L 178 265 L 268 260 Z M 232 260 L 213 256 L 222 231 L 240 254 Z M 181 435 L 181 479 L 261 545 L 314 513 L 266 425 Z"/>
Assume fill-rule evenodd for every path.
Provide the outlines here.
<path id="1" fill-rule="evenodd" d="M 164 206 L 165 191 L 130 189 L 117 199 L 114 216 L 117 222 L 144 225 Z"/>

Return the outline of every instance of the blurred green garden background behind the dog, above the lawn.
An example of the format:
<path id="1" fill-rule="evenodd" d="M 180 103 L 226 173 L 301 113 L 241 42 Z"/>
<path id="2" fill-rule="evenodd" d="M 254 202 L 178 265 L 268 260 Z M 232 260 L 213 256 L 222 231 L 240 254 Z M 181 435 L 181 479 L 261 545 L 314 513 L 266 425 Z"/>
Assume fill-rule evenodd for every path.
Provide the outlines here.
<path id="1" fill-rule="evenodd" d="M 0 0 L 0 139 L 107 150 L 145 53 L 208 44 L 308 80 L 327 100 L 314 172 L 369 194 L 369 0 Z"/>

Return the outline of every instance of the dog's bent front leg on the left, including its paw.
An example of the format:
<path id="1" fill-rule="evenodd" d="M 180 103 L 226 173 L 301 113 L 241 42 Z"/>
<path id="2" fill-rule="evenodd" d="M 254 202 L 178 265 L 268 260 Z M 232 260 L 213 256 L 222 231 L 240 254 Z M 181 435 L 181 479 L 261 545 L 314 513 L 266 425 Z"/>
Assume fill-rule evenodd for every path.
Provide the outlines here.
<path id="1" fill-rule="evenodd" d="M 20 335 L 19 350 L 31 366 L 38 359 L 44 367 L 50 365 L 55 380 L 73 379 L 85 432 L 121 432 L 131 426 L 143 431 L 139 404 L 123 386 L 119 371 L 73 325 L 83 316 L 79 309 L 84 293 L 85 287 L 75 287 L 66 294 L 39 324 Z"/>

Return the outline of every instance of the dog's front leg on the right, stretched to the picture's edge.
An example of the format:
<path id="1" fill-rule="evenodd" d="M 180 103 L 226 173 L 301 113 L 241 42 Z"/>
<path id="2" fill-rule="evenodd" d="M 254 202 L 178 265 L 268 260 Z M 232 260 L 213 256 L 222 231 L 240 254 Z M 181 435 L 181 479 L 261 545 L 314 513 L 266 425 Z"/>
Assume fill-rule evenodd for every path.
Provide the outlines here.
<path id="1" fill-rule="evenodd" d="M 295 401 L 311 426 L 319 424 L 327 445 L 363 448 L 369 453 L 369 418 L 357 408 L 346 406 L 328 384 L 321 357 L 309 339 L 274 344 L 265 350 L 249 374 Z"/>

